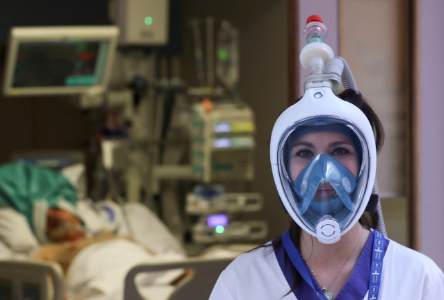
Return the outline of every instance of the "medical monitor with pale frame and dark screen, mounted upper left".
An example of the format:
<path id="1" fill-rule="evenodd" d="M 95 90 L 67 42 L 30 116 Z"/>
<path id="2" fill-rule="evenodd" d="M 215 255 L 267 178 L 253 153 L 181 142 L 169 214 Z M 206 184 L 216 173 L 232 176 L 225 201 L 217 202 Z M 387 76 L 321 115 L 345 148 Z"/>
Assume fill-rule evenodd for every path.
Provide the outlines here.
<path id="1" fill-rule="evenodd" d="M 117 26 L 12 28 L 6 96 L 101 93 L 110 79 Z"/>

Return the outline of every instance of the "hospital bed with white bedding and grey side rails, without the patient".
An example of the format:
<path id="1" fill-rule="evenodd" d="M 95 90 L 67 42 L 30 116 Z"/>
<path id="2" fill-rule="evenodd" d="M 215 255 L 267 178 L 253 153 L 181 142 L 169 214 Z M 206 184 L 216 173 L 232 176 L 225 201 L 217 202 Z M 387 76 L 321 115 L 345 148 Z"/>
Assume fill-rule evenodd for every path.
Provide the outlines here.
<path id="1" fill-rule="evenodd" d="M 111 211 L 112 222 L 106 217 Z M 77 212 L 91 232 L 108 226 L 123 238 L 83 248 L 63 274 L 57 263 L 30 260 L 42 245 L 31 232 L 26 217 L 13 208 L 0 208 L 0 300 L 77 300 L 79 295 L 88 299 L 89 294 L 83 295 L 97 290 L 103 295 L 100 299 L 106 300 L 111 296 L 121 300 L 123 294 L 124 299 L 130 300 L 196 299 L 197 295 L 208 299 L 225 266 L 254 247 L 225 246 L 222 251 L 213 249 L 199 257 L 187 257 L 172 232 L 141 203 L 91 203 L 82 199 L 77 202 Z M 184 296 L 196 290 L 196 295 Z"/>

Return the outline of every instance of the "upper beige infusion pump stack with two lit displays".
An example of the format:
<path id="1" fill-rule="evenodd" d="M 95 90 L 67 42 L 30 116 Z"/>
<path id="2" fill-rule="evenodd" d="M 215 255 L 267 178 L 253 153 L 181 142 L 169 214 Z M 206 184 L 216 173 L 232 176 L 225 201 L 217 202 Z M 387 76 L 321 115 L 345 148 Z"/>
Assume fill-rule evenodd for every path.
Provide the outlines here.
<path id="1" fill-rule="evenodd" d="M 204 183 L 252 181 L 254 114 L 241 103 L 196 103 L 192 109 L 191 161 Z"/>

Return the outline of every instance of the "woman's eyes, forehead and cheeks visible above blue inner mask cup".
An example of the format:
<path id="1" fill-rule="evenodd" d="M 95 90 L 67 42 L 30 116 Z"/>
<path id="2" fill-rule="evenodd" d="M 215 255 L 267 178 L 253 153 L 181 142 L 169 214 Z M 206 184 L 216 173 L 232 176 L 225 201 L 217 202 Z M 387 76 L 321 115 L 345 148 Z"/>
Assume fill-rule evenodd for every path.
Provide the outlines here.
<path id="1" fill-rule="evenodd" d="M 358 155 L 350 139 L 342 133 L 318 131 L 304 134 L 292 146 L 290 172 L 292 181 L 318 154 L 328 154 L 339 161 L 355 177 L 358 174 Z"/>

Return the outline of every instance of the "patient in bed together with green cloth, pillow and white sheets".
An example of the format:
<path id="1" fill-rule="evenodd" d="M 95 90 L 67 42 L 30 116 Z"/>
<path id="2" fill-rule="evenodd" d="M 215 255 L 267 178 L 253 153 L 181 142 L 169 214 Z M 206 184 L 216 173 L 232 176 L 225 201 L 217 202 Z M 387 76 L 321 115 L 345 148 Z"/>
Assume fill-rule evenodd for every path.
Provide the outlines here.
<path id="1" fill-rule="evenodd" d="M 30 166 L 1 166 L 0 190 L 1 250 L 7 250 L 0 257 L 57 261 L 70 300 L 123 299 L 133 266 L 185 257 L 179 241 L 141 203 L 77 199 L 66 179 Z M 137 285 L 167 287 L 182 275 L 143 274 Z"/>

